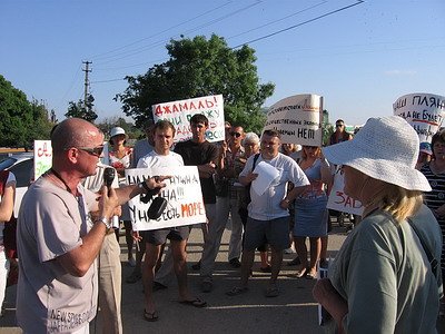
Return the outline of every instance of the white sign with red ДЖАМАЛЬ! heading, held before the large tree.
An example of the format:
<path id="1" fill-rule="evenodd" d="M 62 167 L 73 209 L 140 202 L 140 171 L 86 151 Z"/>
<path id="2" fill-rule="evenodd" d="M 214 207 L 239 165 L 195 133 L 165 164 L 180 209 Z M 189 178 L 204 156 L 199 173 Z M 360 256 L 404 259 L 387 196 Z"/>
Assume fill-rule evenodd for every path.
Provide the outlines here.
<path id="1" fill-rule="evenodd" d="M 154 105 L 152 114 L 155 121 L 167 119 L 175 126 L 175 141 L 184 141 L 191 138 L 190 118 L 195 114 L 202 114 L 209 120 L 209 127 L 206 132 L 208 141 L 225 139 L 222 95 Z"/>

